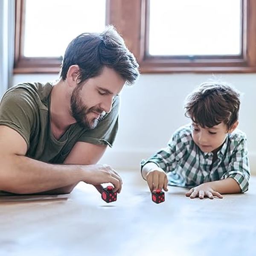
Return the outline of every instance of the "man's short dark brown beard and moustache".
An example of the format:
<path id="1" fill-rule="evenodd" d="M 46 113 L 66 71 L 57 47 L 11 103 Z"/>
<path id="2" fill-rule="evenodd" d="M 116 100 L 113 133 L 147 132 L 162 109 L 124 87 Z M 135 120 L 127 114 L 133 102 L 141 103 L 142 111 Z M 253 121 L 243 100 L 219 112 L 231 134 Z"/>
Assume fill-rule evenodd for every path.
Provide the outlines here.
<path id="1" fill-rule="evenodd" d="M 72 116 L 76 119 L 79 125 L 86 129 L 94 129 L 98 125 L 99 121 L 103 118 L 105 111 L 101 108 L 91 107 L 87 108 L 85 104 L 83 104 L 79 91 L 81 88 L 77 86 L 71 95 L 70 99 L 70 108 L 72 112 Z M 88 113 L 96 112 L 99 113 L 99 118 L 88 119 Z"/>

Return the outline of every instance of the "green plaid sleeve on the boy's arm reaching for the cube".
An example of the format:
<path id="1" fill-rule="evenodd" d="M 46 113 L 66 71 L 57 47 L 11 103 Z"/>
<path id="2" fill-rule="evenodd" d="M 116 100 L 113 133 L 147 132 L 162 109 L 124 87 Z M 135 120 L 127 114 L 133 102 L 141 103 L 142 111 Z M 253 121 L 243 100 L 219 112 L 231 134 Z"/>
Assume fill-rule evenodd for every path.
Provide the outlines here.
<path id="1" fill-rule="evenodd" d="M 153 162 L 157 164 L 164 172 L 171 172 L 176 167 L 176 157 L 183 154 L 184 145 L 181 142 L 178 133 L 175 133 L 166 148 L 162 148 L 157 153 L 153 154 L 147 160 L 141 161 L 141 170 L 146 163 Z"/>

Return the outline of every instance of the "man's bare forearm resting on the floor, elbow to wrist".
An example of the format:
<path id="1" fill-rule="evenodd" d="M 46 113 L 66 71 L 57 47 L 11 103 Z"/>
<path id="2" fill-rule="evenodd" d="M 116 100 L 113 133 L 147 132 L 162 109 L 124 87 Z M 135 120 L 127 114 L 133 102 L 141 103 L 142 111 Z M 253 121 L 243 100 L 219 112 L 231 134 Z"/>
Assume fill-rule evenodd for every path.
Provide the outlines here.
<path id="1" fill-rule="evenodd" d="M 44 192 L 85 179 L 79 165 L 54 165 L 18 155 L 0 160 L 0 190 L 12 193 Z"/>

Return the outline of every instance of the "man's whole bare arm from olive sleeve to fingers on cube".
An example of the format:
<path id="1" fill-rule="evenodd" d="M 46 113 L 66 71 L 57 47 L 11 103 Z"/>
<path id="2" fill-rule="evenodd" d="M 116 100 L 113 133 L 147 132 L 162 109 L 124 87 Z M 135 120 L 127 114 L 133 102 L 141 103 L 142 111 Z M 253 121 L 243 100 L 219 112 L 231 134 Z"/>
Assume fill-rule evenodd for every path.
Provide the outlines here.
<path id="1" fill-rule="evenodd" d="M 25 157 L 27 145 L 12 128 L 0 125 L 0 190 L 17 194 L 45 192 L 79 181 L 93 185 L 111 182 L 120 190 L 119 176 L 110 166 L 54 165 Z"/>

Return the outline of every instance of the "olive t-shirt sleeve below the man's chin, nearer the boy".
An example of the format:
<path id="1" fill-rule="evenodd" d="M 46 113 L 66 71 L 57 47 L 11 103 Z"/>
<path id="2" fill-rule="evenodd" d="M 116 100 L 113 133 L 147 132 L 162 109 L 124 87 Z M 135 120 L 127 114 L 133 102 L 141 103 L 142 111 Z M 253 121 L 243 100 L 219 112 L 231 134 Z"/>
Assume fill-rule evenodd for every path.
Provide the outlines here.
<path id="1" fill-rule="evenodd" d="M 113 101 L 111 111 L 105 115 L 96 128 L 85 131 L 78 141 L 112 147 L 118 131 L 119 109 L 120 96 L 117 96 Z"/>

